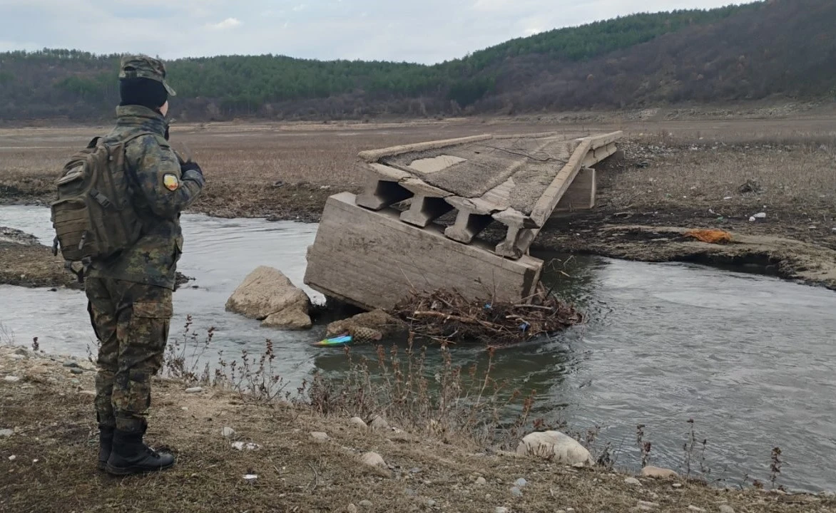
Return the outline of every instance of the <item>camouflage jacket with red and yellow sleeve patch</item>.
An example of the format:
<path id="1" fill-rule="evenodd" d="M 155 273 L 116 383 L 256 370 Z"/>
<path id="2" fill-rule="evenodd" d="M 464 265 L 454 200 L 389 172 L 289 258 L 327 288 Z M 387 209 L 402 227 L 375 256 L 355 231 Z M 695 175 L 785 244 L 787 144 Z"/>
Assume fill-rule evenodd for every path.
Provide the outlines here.
<path id="1" fill-rule="evenodd" d="M 168 126 L 161 114 L 127 105 L 117 107 L 116 116 L 116 125 L 105 139 L 124 140 L 140 131 L 154 134 L 141 135 L 125 145 L 128 172 L 139 184 L 132 199 L 143 222 L 143 235 L 112 260 L 92 262 L 87 276 L 173 289 L 183 251 L 180 213 L 200 193 L 203 176 L 194 170 L 181 172 L 180 160 L 164 136 Z"/>

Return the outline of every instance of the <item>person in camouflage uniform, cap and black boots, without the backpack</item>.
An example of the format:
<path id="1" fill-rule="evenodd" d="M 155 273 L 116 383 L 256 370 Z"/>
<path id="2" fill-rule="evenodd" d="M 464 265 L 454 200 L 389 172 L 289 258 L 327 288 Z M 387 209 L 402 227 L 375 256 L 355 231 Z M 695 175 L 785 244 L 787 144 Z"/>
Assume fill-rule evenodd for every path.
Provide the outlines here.
<path id="1" fill-rule="evenodd" d="M 145 55 L 120 63 L 120 105 L 105 142 L 123 143 L 128 196 L 140 236 L 132 246 L 85 272 L 88 311 L 99 339 L 96 418 L 99 469 L 113 475 L 163 470 L 174 456 L 143 442 L 150 378 L 163 363 L 183 249 L 180 214 L 195 201 L 203 172 L 168 144 L 165 65 Z"/>

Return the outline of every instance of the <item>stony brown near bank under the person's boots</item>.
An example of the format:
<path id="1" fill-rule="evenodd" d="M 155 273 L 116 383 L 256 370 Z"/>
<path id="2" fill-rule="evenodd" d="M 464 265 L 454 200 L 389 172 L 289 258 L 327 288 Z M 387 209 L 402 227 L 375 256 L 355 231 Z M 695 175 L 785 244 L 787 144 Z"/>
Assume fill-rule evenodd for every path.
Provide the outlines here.
<path id="1" fill-rule="evenodd" d="M 208 383 L 196 391 L 171 378 L 155 379 L 147 438 L 173 451 L 178 464 L 116 479 L 95 468 L 93 381 L 89 362 L 0 346 L 0 510 L 104 511 L 116 500 L 181 513 L 836 511 L 833 496 L 558 465 L 455 432 L 371 423 L 371 415 L 349 409 L 324 414 L 310 404 L 256 401 Z M 354 414 L 377 427 L 359 424 Z M 384 463 L 364 463 L 370 453 Z"/>

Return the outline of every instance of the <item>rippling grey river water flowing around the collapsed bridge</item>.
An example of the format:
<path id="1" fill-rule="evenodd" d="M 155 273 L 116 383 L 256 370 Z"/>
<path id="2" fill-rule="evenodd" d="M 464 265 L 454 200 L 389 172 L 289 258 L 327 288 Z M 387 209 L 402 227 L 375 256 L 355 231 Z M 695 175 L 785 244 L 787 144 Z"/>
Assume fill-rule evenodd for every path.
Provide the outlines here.
<path id="1" fill-rule="evenodd" d="M 242 349 L 257 353 L 269 338 L 288 382 L 318 368 L 345 370 L 340 349 L 310 345 L 324 327 L 281 332 L 224 311 L 259 265 L 280 269 L 321 302 L 302 285 L 316 225 L 197 215 L 183 216 L 182 224 L 179 270 L 196 280 L 175 293 L 172 338 L 191 314 L 197 333 L 216 328 L 210 360 L 218 350 L 231 358 Z M 0 206 L 0 226 L 51 244 L 42 207 Z M 640 462 L 635 428 L 645 424 L 650 463 L 675 470 L 684 470 L 687 421 L 694 419 L 697 438 L 707 439 L 709 479 L 730 486 L 746 475 L 768 480 L 772 448 L 780 447 L 778 484 L 836 490 L 836 293 L 676 263 L 573 258 L 560 269 L 544 282 L 584 309 L 589 322 L 495 358 L 495 378 L 538 391 L 538 416 L 578 431 L 599 426 L 617 464 L 632 469 Z M 0 286 L 0 323 L 17 343 L 38 337 L 48 352 L 84 356 L 95 348 L 83 292 Z M 456 364 L 486 358 L 478 348 L 455 348 L 453 356 Z"/>

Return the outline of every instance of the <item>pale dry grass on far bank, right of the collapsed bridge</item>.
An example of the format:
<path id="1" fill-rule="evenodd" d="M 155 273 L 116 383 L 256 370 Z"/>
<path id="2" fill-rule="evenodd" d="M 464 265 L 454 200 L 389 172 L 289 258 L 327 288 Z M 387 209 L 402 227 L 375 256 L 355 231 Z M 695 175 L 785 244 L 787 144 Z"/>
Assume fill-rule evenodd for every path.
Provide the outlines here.
<path id="1" fill-rule="evenodd" d="M 758 211 L 808 211 L 833 221 L 836 139 L 829 145 L 729 145 L 642 137 L 621 147 L 619 172 L 602 173 L 605 201 L 615 209 L 688 206 L 747 218 Z"/>

